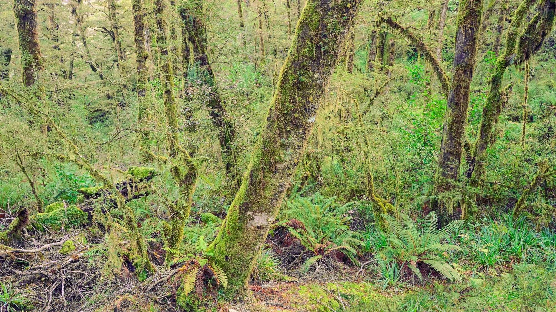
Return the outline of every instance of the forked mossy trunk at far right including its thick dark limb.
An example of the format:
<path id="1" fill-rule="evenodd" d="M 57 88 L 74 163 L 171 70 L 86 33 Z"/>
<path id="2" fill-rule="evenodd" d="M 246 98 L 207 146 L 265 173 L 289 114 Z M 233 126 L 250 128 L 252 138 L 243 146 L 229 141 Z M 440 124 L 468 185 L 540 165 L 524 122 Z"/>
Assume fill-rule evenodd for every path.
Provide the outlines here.
<path id="1" fill-rule="evenodd" d="M 533 53 L 540 49 L 544 38 L 547 37 L 552 29 L 556 3 L 554 0 L 543 0 L 539 4 L 539 12 L 523 29 L 518 39 L 518 32 L 522 28 L 525 16 L 533 3 L 535 3 L 534 0 L 524 0 L 515 11 L 506 33 L 505 52 L 497 58 L 490 77 L 490 91 L 483 108 L 479 135 L 475 142 L 473 157 L 468 169 L 470 185 L 473 187 L 479 185 L 481 175 L 483 175 L 486 149 L 490 144 L 494 125 L 498 120 L 500 111 L 502 111 L 500 89 L 502 88 L 502 78 L 506 68 L 510 65 L 510 62 L 515 62 L 516 64 L 526 62 Z"/>

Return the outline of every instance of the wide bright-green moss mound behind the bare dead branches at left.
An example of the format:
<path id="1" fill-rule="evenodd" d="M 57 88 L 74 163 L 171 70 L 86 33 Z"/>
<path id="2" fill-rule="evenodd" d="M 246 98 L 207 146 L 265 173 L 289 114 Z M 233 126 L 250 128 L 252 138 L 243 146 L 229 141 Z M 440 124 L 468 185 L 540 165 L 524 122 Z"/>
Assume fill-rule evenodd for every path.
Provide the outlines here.
<path id="1" fill-rule="evenodd" d="M 87 213 L 72 205 L 51 212 L 33 214 L 29 217 L 28 227 L 35 227 L 42 232 L 46 227 L 61 229 L 62 226 L 79 227 L 87 223 Z"/>

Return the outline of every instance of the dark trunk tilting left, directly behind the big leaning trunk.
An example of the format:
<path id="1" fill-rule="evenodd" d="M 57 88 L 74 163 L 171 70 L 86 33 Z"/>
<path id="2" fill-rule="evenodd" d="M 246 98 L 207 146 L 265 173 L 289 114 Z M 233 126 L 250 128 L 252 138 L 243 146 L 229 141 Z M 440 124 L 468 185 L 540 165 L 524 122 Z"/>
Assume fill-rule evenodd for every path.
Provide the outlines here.
<path id="1" fill-rule="evenodd" d="M 202 0 L 188 0 L 182 2 L 178 7 L 183 29 L 187 33 L 188 42 L 192 48 L 191 53 L 198 67 L 197 77 L 203 84 L 211 86 L 211 94 L 207 101 L 209 106 L 212 123 L 219 130 L 219 141 L 222 152 L 222 161 L 226 166 L 226 176 L 232 181 L 232 185 L 237 189 L 240 186 L 240 177 L 237 173 L 236 154 L 234 149 L 235 130 L 230 119 L 227 117 L 224 103 L 220 98 L 220 93 L 216 85 L 216 77 L 212 71 L 207 55 L 207 37 L 205 21 L 203 20 Z"/>

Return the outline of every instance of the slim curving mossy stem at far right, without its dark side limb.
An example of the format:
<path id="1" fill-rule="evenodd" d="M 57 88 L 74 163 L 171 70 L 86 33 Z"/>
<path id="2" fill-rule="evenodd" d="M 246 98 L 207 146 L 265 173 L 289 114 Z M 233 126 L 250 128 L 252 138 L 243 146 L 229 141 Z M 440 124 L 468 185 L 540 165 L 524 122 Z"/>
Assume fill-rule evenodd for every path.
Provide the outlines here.
<path id="1" fill-rule="evenodd" d="M 552 0 L 545 1 L 550 2 Z M 502 101 L 500 100 L 502 78 L 504 77 L 504 72 L 506 71 L 506 68 L 508 67 L 510 62 L 512 62 L 513 56 L 515 54 L 518 32 L 522 28 L 525 16 L 527 15 L 529 8 L 533 5 L 534 2 L 534 0 L 524 0 L 515 11 L 512 22 L 510 23 L 510 26 L 506 33 L 505 52 L 503 55 L 500 55 L 497 58 L 496 64 L 494 65 L 493 73 L 490 77 L 490 91 L 488 97 L 486 98 L 485 106 L 483 108 L 483 115 L 481 116 L 481 122 L 479 125 L 479 135 L 475 143 L 473 157 L 471 158 L 471 163 L 469 164 L 468 170 L 468 172 L 470 172 L 471 178 L 470 185 L 473 187 L 479 185 L 479 181 L 481 175 L 483 174 L 484 165 L 486 162 L 486 149 L 490 144 L 490 137 L 492 136 L 494 125 L 498 120 L 498 115 L 500 114 L 500 111 L 502 111 L 502 108 L 500 107 L 502 103 Z M 553 17 L 554 13 L 552 13 L 552 18 Z M 529 25 L 531 25 L 532 23 L 534 23 L 534 19 L 532 19 Z M 529 25 L 527 28 L 525 28 L 524 33 L 534 33 L 534 30 L 529 29 Z M 542 30 L 545 31 L 546 29 Z M 520 41 L 521 39 L 522 38 L 520 38 Z M 544 39 L 544 37 L 542 39 Z M 542 40 L 540 41 L 542 42 Z"/>

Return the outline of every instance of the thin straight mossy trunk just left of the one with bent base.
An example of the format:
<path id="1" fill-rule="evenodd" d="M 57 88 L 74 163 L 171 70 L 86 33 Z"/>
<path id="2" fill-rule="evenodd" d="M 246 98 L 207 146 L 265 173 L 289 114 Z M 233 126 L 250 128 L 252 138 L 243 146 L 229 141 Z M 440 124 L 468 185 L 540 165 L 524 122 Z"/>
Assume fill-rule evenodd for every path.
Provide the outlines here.
<path id="1" fill-rule="evenodd" d="M 148 86 L 148 53 L 145 48 L 145 17 L 142 0 L 132 0 L 131 11 L 133 13 L 133 41 L 135 42 L 135 67 L 137 70 L 137 104 L 138 120 L 142 126 L 139 134 L 139 147 L 141 150 L 141 161 L 146 161 L 146 152 L 149 150 L 149 131 L 146 129 L 150 120 L 149 103 L 146 98 Z"/>

